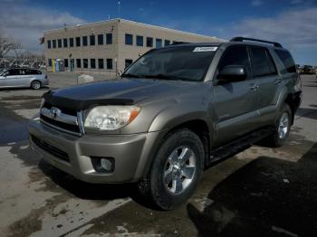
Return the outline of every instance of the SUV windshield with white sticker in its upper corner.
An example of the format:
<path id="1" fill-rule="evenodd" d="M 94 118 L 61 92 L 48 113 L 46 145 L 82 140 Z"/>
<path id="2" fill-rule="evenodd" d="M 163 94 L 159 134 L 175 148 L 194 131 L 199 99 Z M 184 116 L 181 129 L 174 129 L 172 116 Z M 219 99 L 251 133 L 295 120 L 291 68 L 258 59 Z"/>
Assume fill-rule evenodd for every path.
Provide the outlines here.
<path id="1" fill-rule="evenodd" d="M 122 77 L 203 81 L 216 46 L 178 46 L 153 50 L 132 64 Z"/>

